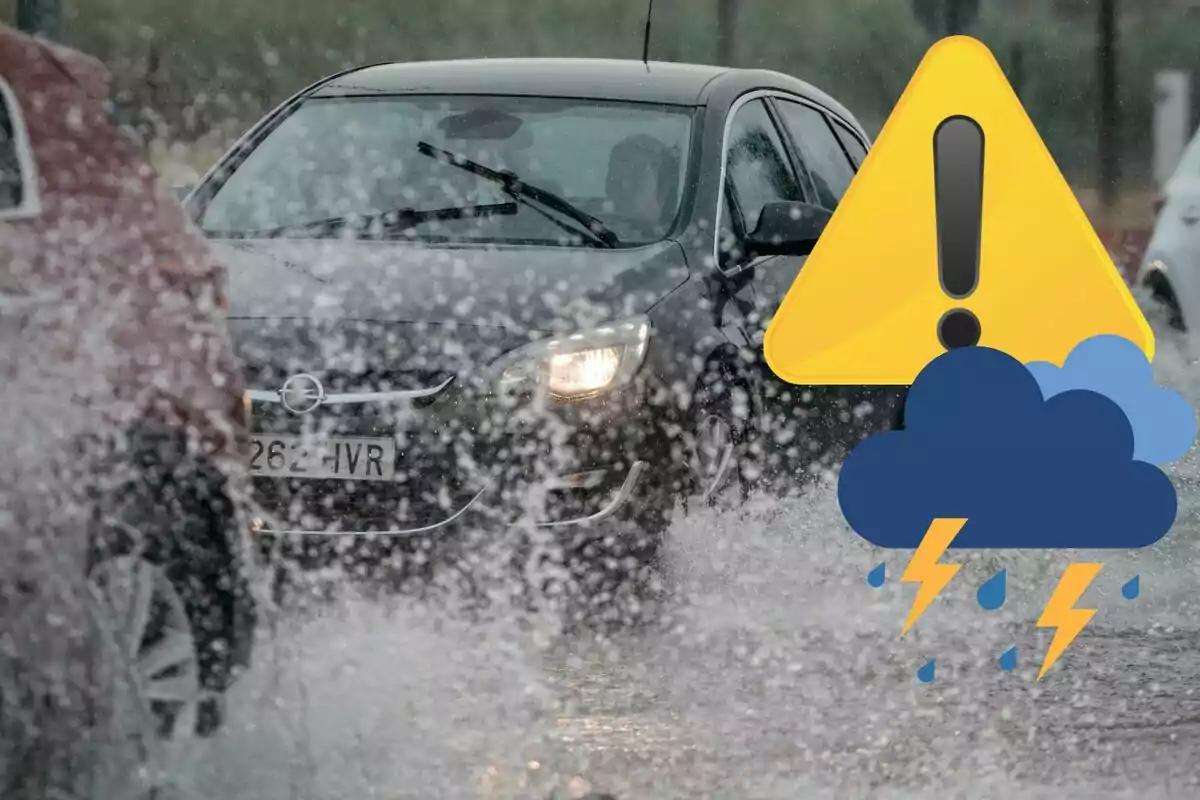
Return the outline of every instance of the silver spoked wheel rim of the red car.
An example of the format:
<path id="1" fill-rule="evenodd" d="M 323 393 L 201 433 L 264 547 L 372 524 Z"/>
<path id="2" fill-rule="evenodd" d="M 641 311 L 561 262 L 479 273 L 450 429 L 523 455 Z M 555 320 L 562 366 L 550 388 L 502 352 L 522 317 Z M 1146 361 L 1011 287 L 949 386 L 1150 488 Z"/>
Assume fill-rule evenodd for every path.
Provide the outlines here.
<path id="1" fill-rule="evenodd" d="M 184 600 L 163 570 L 132 555 L 106 560 L 91 572 L 98 618 L 118 667 L 132 688 L 134 724 L 152 726 L 178 744 L 196 730 L 200 670 Z"/>

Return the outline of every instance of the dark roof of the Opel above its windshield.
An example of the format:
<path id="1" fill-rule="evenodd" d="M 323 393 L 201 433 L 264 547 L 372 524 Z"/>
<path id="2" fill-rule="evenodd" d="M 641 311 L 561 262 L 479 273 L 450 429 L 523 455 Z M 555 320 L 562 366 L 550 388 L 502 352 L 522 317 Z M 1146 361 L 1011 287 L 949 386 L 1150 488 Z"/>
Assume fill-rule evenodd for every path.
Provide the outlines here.
<path id="1" fill-rule="evenodd" d="M 703 104 L 709 85 L 718 80 L 744 84 L 748 90 L 785 89 L 853 120 L 840 103 L 820 89 L 779 72 L 631 59 L 458 59 L 379 64 L 335 76 L 318 85 L 312 96 L 521 95 L 698 106 Z"/>

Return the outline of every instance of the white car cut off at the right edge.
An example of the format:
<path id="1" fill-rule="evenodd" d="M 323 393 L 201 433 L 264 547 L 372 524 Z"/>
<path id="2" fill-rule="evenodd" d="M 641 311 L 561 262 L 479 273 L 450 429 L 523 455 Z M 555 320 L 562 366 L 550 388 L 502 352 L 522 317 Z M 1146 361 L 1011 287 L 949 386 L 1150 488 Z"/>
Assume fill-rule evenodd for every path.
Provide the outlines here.
<path id="1" fill-rule="evenodd" d="M 1200 324 L 1200 133 L 1156 200 L 1154 231 L 1142 253 L 1138 283 L 1177 331 Z"/>

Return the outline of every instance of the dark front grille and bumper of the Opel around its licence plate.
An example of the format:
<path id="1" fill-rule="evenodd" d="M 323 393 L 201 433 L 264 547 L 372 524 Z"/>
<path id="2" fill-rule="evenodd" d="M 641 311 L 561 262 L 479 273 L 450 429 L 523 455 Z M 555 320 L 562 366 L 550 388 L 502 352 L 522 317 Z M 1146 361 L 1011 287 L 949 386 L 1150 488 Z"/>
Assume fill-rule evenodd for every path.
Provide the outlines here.
<path id="1" fill-rule="evenodd" d="M 469 330 L 468 330 L 469 327 Z M 484 486 L 467 465 L 494 463 L 481 441 L 485 409 L 467 389 L 480 363 L 514 343 L 505 329 L 457 329 L 341 319 L 230 320 L 247 387 L 277 392 L 300 373 L 329 395 L 415 392 L 426 397 L 328 403 L 296 415 L 263 397 L 251 429 L 263 434 L 386 437 L 396 443 L 395 482 L 256 476 L 265 512 L 304 530 L 397 530 L 437 524 L 457 513 Z M 449 383 L 448 383 L 449 381 Z"/>

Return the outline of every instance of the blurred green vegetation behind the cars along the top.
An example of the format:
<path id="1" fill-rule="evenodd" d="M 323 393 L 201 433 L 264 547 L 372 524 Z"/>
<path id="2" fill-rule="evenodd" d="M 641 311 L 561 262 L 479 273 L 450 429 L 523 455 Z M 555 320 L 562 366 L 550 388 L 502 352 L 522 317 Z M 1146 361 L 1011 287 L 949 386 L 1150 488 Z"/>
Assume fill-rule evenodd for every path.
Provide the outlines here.
<path id="1" fill-rule="evenodd" d="M 0 0 L 5 19 L 17 1 Z M 1085 187 L 1097 163 L 1099 1 L 964 4 L 978 8 L 966 32 L 992 48 L 1063 172 Z M 146 109 L 162 138 L 222 144 L 308 82 L 353 65 L 641 58 L 646 16 L 646 0 L 61 2 L 66 43 L 102 59 L 119 98 Z M 650 58 L 798 76 L 842 100 L 874 133 L 937 37 L 929 20 L 941 2 L 656 0 Z M 1153 73 L 1183 68 L 1200 78 L 1198 30 L 1198 0 L 1117 2 L 1117 143 L 1129 186 L 1148 182 Z"/>

